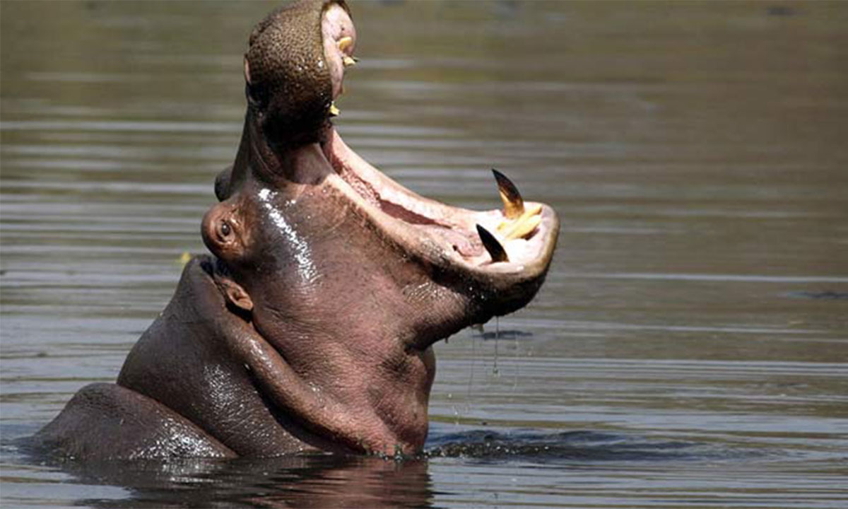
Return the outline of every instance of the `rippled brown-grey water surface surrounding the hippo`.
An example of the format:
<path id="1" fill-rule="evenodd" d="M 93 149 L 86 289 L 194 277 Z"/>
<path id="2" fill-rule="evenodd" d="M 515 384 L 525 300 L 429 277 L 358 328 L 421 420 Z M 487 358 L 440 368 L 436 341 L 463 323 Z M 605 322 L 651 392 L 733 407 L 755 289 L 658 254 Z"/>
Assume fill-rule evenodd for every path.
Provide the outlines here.
<path id="1" fill-rule="evenodd" d="M 337 126 L 407 187 L 561 215 L 439 344 L 428 458 L 38 464 L 235 155 L 270 3 L 3 2 L 3 506 L 848 506 L 848 3 L 353 3 Z"/>

